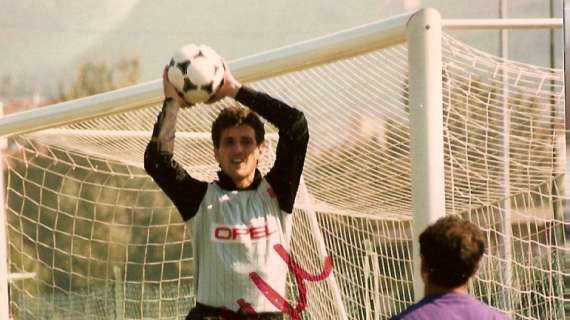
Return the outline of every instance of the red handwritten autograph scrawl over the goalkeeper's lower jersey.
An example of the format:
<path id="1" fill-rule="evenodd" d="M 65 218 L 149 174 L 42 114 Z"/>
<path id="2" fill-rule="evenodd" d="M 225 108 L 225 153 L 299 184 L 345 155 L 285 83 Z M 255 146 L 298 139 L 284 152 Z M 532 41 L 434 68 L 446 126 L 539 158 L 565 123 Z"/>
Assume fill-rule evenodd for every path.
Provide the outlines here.
<path id="1" fill-rule="evenodd" d="M 287 263 L 289 271 L 291 271 L 295 277 L 295 283 L 297 285 L 298 293 L 298 303 L 296 306 L 292 306 L 285 297 L 282 297 L 277 291 L 275 291 L 265 280 L 263 280 L 257 273 L 252 272 L 249 277 L 255 284 L 255 286 L 263 293 L 263 295 L 271 301 L 271 303 L 277 307 L 281 312 L 291 316 L 292 320 L 300 320 L 301 313 L 305 310 L 307 306 L 307 287 L 305 281 L 316 282 L 326 279 L 332 272 L 332 258 L 326 256 L 323 263 L 323 270 L 321 273 L 313 275 L 303 270 L 287 253 L 287 250 L 280 245 L 276 244 L 273 249 L 279 254 L 281 259 Z M 247 315 L 255 316 L 257 312 L 247 301 L 239 299 L 237 301 L 241 310 Z M 232 313 L 230 310 L 223 310 L 220 316 L 226 318 L 227 320 L 243 320 L 243 317 Z"/>

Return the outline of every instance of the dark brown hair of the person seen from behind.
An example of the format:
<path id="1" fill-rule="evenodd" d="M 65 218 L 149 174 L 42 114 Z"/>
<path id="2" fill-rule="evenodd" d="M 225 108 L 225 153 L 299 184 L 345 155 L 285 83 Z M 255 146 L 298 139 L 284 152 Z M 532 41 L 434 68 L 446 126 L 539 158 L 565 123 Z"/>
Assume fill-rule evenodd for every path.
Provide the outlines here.
<path id="1" fill-rule="evenodd" d="M 467 282 L 485 252 L 485 237 L 475 224 L 456 216 L 437 220 L 420 235 L 428 280 L 451 289 Z"/>

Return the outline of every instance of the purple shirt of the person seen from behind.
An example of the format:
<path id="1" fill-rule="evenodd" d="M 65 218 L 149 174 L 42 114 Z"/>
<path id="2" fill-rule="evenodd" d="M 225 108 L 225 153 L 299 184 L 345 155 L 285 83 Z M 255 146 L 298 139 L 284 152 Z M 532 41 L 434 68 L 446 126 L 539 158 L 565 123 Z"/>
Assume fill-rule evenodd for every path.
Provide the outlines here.
<path id="1" fill-rule="evenodd" d="M 506 320 L 488 305 L 463 293 L 444 293 L 423 298 L 392 320 Z"/>

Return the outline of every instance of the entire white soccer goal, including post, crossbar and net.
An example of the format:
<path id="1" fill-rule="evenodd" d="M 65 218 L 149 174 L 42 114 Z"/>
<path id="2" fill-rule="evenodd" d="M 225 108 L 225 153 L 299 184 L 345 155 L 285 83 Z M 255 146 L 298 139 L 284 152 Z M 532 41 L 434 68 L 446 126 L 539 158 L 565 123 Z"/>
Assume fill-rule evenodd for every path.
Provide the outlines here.
<path id="1" fill-rule="evenodd" d="M 560 19 L 442 20 L 436 10 L 423 9 L 229 62 L 236 78 L 290 99 L 309 119 L 311 145 L 303 186 L 307 194 L 295 208 L 298 229 L 292 250 L 311 271 L 319 270 L 325 253 L 335 263 L 326 284 L 310 289 L 309 318 L 389 317 L 421 298 L 417 236 L 445 214 L 473 220 L 486 232 L 490 250 L 472 292 L 520 318 L 563 315 L 567 301 L 559 291 L 568 272 L 563 263 L 560 265 L 560 256 L 568 252 L 560 229 L 567 225 L 556 214 L 551 217 L 544 213 L 564 200 L 564 195 L 555 192 L 563 188 L 560 177 L 564 172 L 557 158 L 558 148 L 563 146 L 552 138 L 560 134 L 560 72 L 501 60 L 442 33 L 446 28 L 560 26 Z M 501 74 L 509 77 L 501 78 Z M 500 84 L 509 90 L 501 91 Z M 10 218 L 2 219 L 6 226 L 0 225 L 7 231 L 6 236 L 0 232 L 0 246 L 8 252 L 0 261 L 9 261 L 12 252 L 12 259 L 17 261 L 8 268 L 20 273 L 38 271 L 36 278 L 41 279 L 35 286 L 18 286 L 17 298 L 10 298 L 12 303 L 7 289 L 2 290 L 0 297 L 6 298 L 0 302 L 1 310 L 17 308 L 33 317 L 32 309 L 39 307 L 27 304 L 32 305 L 36 292 L 83 299 L 97 294 L 93 293 L 95 289 L 112 286 L 105 291 L 110 292 L 105 293 L 110 298 L 100 302 L 105 307 L 113 305 L 108 307 L 111 311 L 103 312 L 105 316 L 181 315 L 190 298 L 179 304 L 176 296 L 187 294 L 182 282 L 191 283 L 191 275 L 171 252 L 177 252 L 186 263 L 190 258 L 184 252 L 191 244 L 187 238 L 170 233 L 170 228 L 186 230 L 174 218 L 153 225 L 155 215 L 170 217 L 174 209 L 164 200 L 147 204 L 147 198 L 158 197 L 160 192 L 137 171 L 162 100 L 161 86 L 156 80 L 0 118 L 0 136 L 13 139 L 4 160 L 9 175 L 5 187 L 8 200 L 1 215 Z M 498 110 L 504 101 L 521 106 L 521 110 L 513 109 L 512 117 L 524 122 L 507 132 L 514 142 L 513 155 L 505 160 L 512 162 L 515 171 L 508 182 L 512 185 L 508 201 L 516 218 L 516 235 L 501 232 L 501 221 L 505 221 L 501 219 L 511 213 L 501 208 L 504 195 L 501 186 L 492 181 L 496 168 L 501 167 L 496 137 L 501 126 L 496 122 L 500 122 Z M 214 110 L 226 103 L 217 104 Z M 536 111 L 542 108 L 551 114 Z M 198 107 L 196 113 L 199 120 L 208 122 L 213 111 Z M 215 165 L 207 160 L 211 153 L 207 127 L 192 121 L 183 119 L 180 124 L 177 137 L 182 147 L 177 146 L 177 157 L 180 154 L 181 162 L 199 178 L 211 178 Z M 341 130 L 345 131 L 343 136 L 338 132 Z M 269 137 L 271 147 L 274 131 L 269 130 Z M 343 145 L 348 145 L 347 150 L 339 147 Z M 474 157 L 476 154 L 479 157 Z M 267 168 L 271 161 L 269 156 L 261 166 Z M 323 162 L 330 162 L 330 166 Z M 64 164 L 67 167 L 61 169 Z M 76 168 L 86 172 L 81 178 L 68 178 Z M 32 172 L 36 169 L 43 173 Z M 48 176 L 63 186 L 51 186 L 46 182 Z M 66 179 L 78 190 L 67 190 Z M 115 180 L 116 186 L 111 184 Z M 116 198 L 107 200 L 110 196 L 104 195 L 104 189 L 109 186 L 117 194 L 126 190 L 132 208 Z M 46 194 L 36 197 L 28 189 L 45 189 Z M 84 195 L 91 189 L 95 198 Z M 71 195 L 64 196 L 68 191 Z M 53 204 L 46 200 L 52 197 Z M 68 208 L 60 198 L 76 203 Z M 307 199 L 311 199 L 310 204 Z M 97 209 L 98 202 L 103 203 L 103 209 Z M 82 212 L 81 206 L 93 208 L 93 212 Z M 27 214 L 27 210 L 34 213 Z M 541 216 L 533 216 L 533 210 Z M 63 215 L 52 221 L 44 211 Z M 146 237 L 131 236 L 133 243 L 124 245 L 125 233 L 119 230 L 134 234 L 129 224 L 136 215 L 150 217 L 150 222 L 134 225 L 146 232 Z M 109 220 L 103 221 L 101 216 Z M 70 221 L 73 228 L 65 229 L 62 221 Z M 78 230 L 81 226 L 91 231 Z M 97 234 L 97 227 L 114 230 L 113 235 Z M 33 229 L 35 237 L 26 229 Z M 40 229 L 57 236 L 39 236 L 43 232 Z M 70 240 L 71 247 L 58 247 L 61 239 Z M 44 242 L 35 249 L 29 247 L 40 240 Z M 88 247 L 89 253 L 78 252 L 74 246 L 79 244 Z M 121 248 L 111 248 L 115 245 Z M 519 256 L 512 260 L 512 266 L 505 266 L 500 252 L 511 246 Z M 109 253 L 98 253 L 96 248 Z M 152 258 L 129 260 L 135 249 L 144 250 L 145 255 L 148 252 Z M 66 255 L 70 262 L 58 263 L 57 257 Z M 70 266 L 75 260 L 85 262 L 86 271 Z M 173 265 L 184 281 L 165 271 Z M 37 270 L 29 270 L 31 266 Z M 534 269 L 529 270 L 529 266 Z M 96 267 L 103 271 L 96 273 Z M 505 267 L 513 269 L 514 280 L 502 278 Z M 132 276 L 135 271 L 129 271 L 139 269 L 160 270 L 161 277 L 155 279 L 145 271 L 139 279 Z M 535 270 L 540 270 L 540 276 L 534 276 Z M 7 277 L 0 272 L 3 285 L 8 284 Z M 78 286 L 75 278 L 78 283 L 87 283 L 87 293 L 72 289 Z M 149 285 L 137 286 L 137 281 Z M 162 292 L 167 284 L 175 284 L 175 294 Z M 152 303 L 138 302 L 149 296 Z M 149 310 L 150 306 L 160 310 Z M 65 317 L 66 308 L 57 305 L 53 312 Z M 80 307 L 71 302 L 69 308 Z"/>

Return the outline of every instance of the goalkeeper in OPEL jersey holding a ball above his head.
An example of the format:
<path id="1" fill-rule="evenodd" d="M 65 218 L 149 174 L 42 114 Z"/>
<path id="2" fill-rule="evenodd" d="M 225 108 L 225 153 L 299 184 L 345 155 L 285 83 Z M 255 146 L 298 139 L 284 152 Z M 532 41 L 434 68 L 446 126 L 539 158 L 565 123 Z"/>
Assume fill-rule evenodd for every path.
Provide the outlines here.
<path id="1" fill-rule="evenodd" d="M 165 99 L 144 165 L 184 221 L 193 221 L 196 306 L 186 319 L 283 319 L 249 275 L 255 272 L 285 296 L 288 269 L 273 246 L 289 248 L 290 214 L 309 141 L 303 113 L 242 86 L 226 66 L 223 85 L 210 102 L 230 97 L 251 110 L 231 106 L 213 122 L 220 171 L 216 181 L 207 183 L 173 159 L 176 118 L 186 104 L 166 70 L 163 88 Z M 265 176 L 257 169 L 266 146 L 256 113 L 279 129 L 275 163 Z"/>

